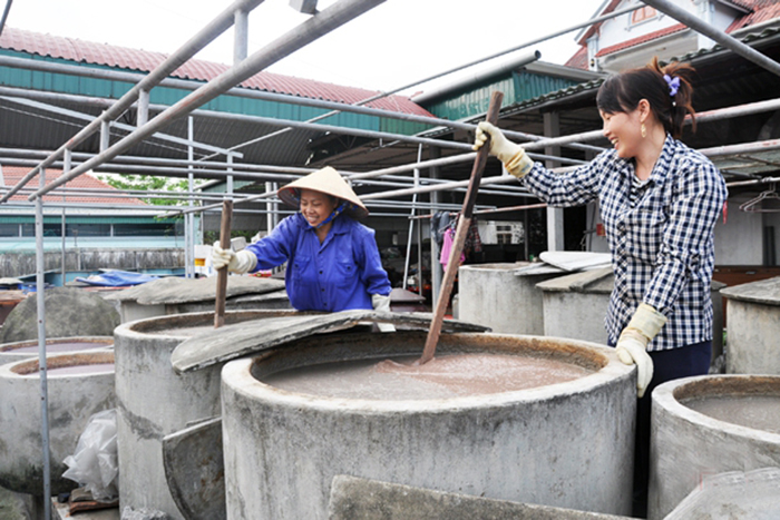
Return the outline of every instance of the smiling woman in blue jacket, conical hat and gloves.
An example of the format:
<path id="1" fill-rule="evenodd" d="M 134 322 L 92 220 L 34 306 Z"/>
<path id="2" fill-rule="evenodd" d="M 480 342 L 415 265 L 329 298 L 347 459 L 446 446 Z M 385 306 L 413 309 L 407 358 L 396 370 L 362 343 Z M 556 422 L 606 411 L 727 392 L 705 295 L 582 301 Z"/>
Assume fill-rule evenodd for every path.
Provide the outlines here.
<path id="1" fill-rule="evenodd" d="M 286 262 L 290 303 L 299 311 L 390 310 L 390 281 L 374 232 L 354 217 L 368 209 L 339 173 L 325 167 L 279 190 L 300 213 L 237 253 L 214 245 L 214 268 L 270 269 Z"/>

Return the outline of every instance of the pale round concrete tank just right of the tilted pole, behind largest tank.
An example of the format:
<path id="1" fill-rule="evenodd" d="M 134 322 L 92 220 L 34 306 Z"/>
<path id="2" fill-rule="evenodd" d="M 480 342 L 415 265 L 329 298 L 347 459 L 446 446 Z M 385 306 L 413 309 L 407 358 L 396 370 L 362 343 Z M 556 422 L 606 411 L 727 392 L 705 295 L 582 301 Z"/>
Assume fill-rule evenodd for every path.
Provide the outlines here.
<path id="1" fill-rule="evenodd" d="M 458 268 L 458 320 L 501 334 L 544 334 L 542 291 L 536 284 L 556 276 L 516 275 L 528 262 L 461 265 Z"/>

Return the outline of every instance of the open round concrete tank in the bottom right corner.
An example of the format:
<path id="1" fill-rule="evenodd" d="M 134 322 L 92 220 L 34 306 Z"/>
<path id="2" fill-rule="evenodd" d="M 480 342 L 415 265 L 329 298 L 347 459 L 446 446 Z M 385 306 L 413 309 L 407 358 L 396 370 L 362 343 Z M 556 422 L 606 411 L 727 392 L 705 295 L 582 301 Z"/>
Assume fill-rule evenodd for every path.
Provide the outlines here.
<path id="1" fill-rule="evenodd" d="M 779 409 L 780 376 L 704 375 L 659 385 L 649 518 L 664 518 L 709 475 L 780 467 Z"/>

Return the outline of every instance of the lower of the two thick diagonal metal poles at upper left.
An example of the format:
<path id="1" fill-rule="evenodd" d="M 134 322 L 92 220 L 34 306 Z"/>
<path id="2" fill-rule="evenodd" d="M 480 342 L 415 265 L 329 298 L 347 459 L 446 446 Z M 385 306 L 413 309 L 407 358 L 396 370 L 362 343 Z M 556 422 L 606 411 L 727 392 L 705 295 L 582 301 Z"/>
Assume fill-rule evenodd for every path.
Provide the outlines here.
<path id="1" fill-rule="evenodd" d="M 285 56 L 341 27 L 348 21 L 359 17 L 363 12 L 382 2 L 384 2 L 384 0 L 340 0 L 338 3 L 331 6 L 324 11 L 320 11 L 318 14 L 314 14 L 312 18 L 301 23 L 294 30 L 289 31 L 286 35 L 283 35 L 269 46 L 250 56 L 240 65 L 226 70 L 212 81 L 208 81 L 199 89 L 189 94 L 187 97 L 165 110 L 163 114 L 159 114 L 149 122 L 140 128 L 137 128 L 133 134 L 116 143 L 103 154 L 86 163 L 82 163 L 78 167 L 74 168 L 74 170 L 67 176 L 64 175 L 57 180 L 50 183 L 48 186 L 39 189 L 30 196 L 30 199 L 40 197 L 55 187 L 60 186 L 68 180 L 78 177 L 82 173 L 113 159 L 126 149 L 143 141 L 158 129 L 167 126 L 169 122 L 186 116 L 195 108 L 216 98 L 232 86 L 241 84 L 270 65 L 275 63 Z"/>

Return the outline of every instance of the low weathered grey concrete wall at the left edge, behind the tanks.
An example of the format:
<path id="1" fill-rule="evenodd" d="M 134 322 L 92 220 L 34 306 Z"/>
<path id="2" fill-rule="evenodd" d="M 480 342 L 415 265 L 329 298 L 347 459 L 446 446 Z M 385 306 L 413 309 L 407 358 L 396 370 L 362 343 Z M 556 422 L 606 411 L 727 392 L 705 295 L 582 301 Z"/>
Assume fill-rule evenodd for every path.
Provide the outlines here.
<path id="1" fill-rule="evenodd" d="M 61 252 L 46 252 L 43 257 L 45 271 L 59 271 L 62 267 Z M 183 266 L 183 248 L 71 249 L 66 253 L 65 261 L 67 271 L 97 271 L 100 268 L 135 271 Z M 36 273 L 36 253 L 3 253 L 0 255 L 0 273 L 3 277 Z"/>

